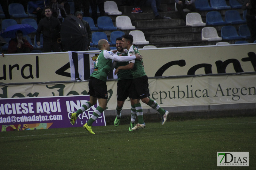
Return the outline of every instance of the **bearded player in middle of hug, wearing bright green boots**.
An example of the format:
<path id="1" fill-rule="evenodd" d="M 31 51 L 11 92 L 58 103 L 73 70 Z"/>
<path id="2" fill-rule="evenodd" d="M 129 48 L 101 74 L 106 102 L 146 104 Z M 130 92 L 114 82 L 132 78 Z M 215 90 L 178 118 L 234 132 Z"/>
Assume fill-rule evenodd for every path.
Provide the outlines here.
<path id="1" fill-rule="evenodd" d="M 117 52 L 115 53 L 116 55 L 127 55 L 128 50 L 124 49 L 122 47 L 122 37 L 116 38 L 116 49 Z M 116 64 L 115 68 L 117 69 L 120 66 L 125 66 L 127 64 L 129 64 L 128 62 L 115 62 L 114 64 Z M 124 100 L 127 99 L 127 97 L 129 96 L 129 89 L 130 86 L 132 84 L 132 73 L 130 70 L 119 70 L 118 74 L 117 74 L 117 93 L 116 93 L 116 98 L 117 98 L 117 106 L 116 106 L 116 119 L 114 121 L 114 125 L 118 126 L 120 123 L 120 119 L 121 119 L 121 111 L 124 105 Z M 130 98 L 130 96 L 129 96 Z M 134 103 L 132 103 L 131 100 L 131 114 L 132 114 L 132 119 L 130 123 L 130 127 L 129 127 L 129 131 L 132 131 L 134 122 L 135 122 L 135 118 L 136 118 L 136 111 L 135 111 L 135 107 L 134 107 Z"/>

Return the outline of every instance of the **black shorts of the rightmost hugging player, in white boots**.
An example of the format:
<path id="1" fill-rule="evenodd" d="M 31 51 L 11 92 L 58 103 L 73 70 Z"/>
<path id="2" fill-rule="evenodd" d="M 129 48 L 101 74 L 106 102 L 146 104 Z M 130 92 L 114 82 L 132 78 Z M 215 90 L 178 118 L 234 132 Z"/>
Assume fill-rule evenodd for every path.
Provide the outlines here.
<path id="1" fill-rule="evenodd" d="M 142 76 L 132 80 L 130 88 L 131 99 L 143 99 L 149 97 L 148 76 Z"/>

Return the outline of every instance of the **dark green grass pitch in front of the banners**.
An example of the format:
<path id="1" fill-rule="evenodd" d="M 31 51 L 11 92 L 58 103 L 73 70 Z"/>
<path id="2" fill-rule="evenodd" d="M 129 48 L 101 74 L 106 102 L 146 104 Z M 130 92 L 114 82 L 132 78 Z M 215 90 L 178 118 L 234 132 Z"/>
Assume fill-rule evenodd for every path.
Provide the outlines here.
<path id="1" fill-rule="evenodd" d="M 0 132 L 1 169 L 254 169 L 256 117 Z M 249 152 L 218 167 L 217 152 Z"/>

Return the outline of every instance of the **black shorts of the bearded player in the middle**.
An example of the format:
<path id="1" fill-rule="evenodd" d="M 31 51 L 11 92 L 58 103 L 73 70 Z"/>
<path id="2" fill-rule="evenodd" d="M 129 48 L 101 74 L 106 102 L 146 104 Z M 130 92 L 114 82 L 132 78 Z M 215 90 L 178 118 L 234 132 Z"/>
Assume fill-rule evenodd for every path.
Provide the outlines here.
<path id="1" fill-rule="evenodd" d="M 118 101 L 124 101 L 127 99 L 130 91 L 130 87 L 132 85 L 132 79 L 124 79 L 117 81 L 117 92 L 116 92 L 116 99 Z"/>

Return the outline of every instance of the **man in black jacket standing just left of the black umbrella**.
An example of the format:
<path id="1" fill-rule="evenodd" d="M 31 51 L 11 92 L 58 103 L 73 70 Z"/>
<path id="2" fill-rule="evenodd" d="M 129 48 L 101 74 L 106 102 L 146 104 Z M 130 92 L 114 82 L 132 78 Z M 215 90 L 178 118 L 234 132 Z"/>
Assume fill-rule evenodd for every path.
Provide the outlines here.
<path id="1" fill-rule="evenodd" d="M 45 18 L 41 19 L 36 30 L 36 42 L 40 46 L 40 34 L 43 33 L 44 52 L 60 52 L 60 21 L 52 16 L 52 9 L 49 6 L 44 8 Z"/>

